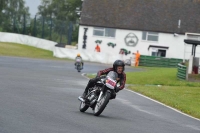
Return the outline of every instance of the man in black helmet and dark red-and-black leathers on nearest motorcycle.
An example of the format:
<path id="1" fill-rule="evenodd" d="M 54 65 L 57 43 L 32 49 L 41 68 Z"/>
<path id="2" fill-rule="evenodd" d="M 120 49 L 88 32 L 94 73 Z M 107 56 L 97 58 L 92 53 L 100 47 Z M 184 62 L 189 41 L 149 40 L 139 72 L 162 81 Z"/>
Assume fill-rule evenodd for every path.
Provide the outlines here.
<path id="1" fill-rule="evenodd" d="M 124 73 L 124 66 L 125 66 L 125 64 L 124 64 L 123 61 L 116 60 L 113 63 L 113 67 L 112 68 L 108 68 L 108 69 L 105 69 L 105 70 L 100 70 L 97 73 L 96 78 L 93 78 L 93 79 L 89 80 L 89 82 L 88 82 L 88 84 L 87 84 L 87 86 L 85 88 L 85 91 L 83 92 L 82 98 L 85 98 L 85 96 L 86 96 L 86 94 L 88 92 L 88 89 L 91 88 L 91 87 L 94 87 L 95 83 L 101 79 L 100 78 L 101 75 L 105 75 L 105 74 L 108 74 L 110 71 L 114 71 L 114 72 L 116 72 L 118 74 L 117 82 L 120 83 L 119 87 L 115 87 L 115 92 L 111 96 L 111 98 L 114 99 L 116 97 L 116 93 L 119 92 L 120 90 L 124 89 L 124 87 L 125 87 L 126 74 Z"/>

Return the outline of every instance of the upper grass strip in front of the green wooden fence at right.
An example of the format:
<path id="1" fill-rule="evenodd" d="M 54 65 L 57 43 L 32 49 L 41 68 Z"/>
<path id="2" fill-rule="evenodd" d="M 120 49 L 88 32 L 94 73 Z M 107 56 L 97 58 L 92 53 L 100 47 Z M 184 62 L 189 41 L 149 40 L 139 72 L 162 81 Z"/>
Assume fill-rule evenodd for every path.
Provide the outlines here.
<path id="1" fill-rule="evenodd" d="M 144 68 L 144 67 L 143 67 Z M 144 68 L 145 71 L 127 72 L 127 84 L 191 86 L 200 87 L 200 82 L 179 80 L 176 77 L 177 68 Z"/>

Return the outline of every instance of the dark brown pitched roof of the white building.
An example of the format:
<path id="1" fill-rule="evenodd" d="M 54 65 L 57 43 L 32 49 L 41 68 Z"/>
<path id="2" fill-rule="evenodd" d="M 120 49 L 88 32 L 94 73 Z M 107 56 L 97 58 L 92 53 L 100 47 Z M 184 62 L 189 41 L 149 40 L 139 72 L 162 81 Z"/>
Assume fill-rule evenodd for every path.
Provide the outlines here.
<path id="1" fill-rule="evenodd" d="M 80 25 L 200 33 L 200 0 L 84 0 Z"/>

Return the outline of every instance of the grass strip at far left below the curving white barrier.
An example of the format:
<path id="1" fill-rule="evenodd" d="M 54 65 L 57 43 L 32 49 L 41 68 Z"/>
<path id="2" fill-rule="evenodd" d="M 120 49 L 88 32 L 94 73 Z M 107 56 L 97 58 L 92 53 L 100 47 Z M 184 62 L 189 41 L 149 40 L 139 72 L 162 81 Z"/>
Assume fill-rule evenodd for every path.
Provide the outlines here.
<path id="1" fill-rule="evenodd" d="M 2 56 L 15 56 L 15 57 L 27 57 L 38 59 L 51 59 L 51 60 L 69 60 L 53 57 L 53 52 L 35 48 L 32 46 L 17 44 L 17 43 L 5 43 L 0 42 L 0 55 Z"/>

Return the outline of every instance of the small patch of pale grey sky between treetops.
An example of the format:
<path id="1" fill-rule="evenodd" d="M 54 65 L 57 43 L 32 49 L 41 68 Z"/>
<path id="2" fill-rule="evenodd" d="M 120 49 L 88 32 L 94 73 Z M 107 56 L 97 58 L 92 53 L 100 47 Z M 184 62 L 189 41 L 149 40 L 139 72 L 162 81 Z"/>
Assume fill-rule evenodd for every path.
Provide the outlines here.
<path id="1" fill-rule="evenodd" d="M 38 6 L 40 5 L 41 0 L 25 0 L 26 6 L 29 7 L 29 12 L 31 16 L 35 16 L 38 12 Z"/>

